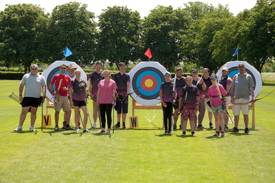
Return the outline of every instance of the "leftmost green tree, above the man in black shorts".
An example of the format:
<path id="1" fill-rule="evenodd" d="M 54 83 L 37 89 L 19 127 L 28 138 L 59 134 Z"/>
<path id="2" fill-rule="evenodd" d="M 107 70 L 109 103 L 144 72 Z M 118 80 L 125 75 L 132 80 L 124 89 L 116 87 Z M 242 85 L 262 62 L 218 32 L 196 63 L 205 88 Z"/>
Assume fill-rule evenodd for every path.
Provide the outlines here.
<path id="1" fill-rule="evenodd" d="M 45 61 L 45 32 L 49 14 L 33 4 L 7 5 L 0 12 L 0 60 L 7 66 L 24 66 Z"/>

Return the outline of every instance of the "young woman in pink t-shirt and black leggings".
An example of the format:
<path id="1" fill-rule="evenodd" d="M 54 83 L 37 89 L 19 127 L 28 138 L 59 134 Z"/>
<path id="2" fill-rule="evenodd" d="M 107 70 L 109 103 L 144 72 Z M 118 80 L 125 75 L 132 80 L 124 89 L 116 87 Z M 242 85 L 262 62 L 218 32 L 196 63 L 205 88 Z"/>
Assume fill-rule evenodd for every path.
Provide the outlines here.
<path id="1" fill-rule="evenodd" d="M 102 128 L 99 133 L 104 133 L 105 132 L 105 123 L 106 123 L 106 118 L 105 118 L 105 113 L 107 116 L 107 125 L 108 129 L 106 133 L 110 133 L 111 131 L 111 124 L 112 124 L 112 107 L 113 105 L 115 106 L 116 103 L 114 103 L 114 96 L 116 95 L 116 82 L 113 80 L 110 80 L 111 72 L 109 70 L 104 70 L 103 71 L 104 75 L 104 80 L 101 80 L 99 82 L 98 86 L 98 91 L 97 91 L 97 99 L 96 103 L 97 106 L 99 106 L 100 110 L 100 116 L 101 116 L 101 123 L 102 123 Z"/>

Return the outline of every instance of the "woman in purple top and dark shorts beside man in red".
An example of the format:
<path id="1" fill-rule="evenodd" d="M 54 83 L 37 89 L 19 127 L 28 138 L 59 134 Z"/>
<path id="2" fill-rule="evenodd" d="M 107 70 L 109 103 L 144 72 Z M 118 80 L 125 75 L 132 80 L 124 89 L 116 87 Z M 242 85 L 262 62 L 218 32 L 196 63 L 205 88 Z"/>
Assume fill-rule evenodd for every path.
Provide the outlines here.
<path id="1" fill-rule="evenodd" d="M 71 105 L 74 106 L 74 122 L 76 127 L 75 132 L 77 133 L 79 132 L 79 125 L 78 125 L 79 108 L 82 109 L 84 114 L 83 132 L 91 132 L 86 129 L 87 121 L 88 121 L 88 110 L 85 102 L 87 98 L 87 91 L 86 91 L 87 83 L 80 78 L 81 72 L 79 69 L 74 71 L 74 75 L 75 75 L 75 78 L 70 82 L 69 87 L 70 87 Z"/>

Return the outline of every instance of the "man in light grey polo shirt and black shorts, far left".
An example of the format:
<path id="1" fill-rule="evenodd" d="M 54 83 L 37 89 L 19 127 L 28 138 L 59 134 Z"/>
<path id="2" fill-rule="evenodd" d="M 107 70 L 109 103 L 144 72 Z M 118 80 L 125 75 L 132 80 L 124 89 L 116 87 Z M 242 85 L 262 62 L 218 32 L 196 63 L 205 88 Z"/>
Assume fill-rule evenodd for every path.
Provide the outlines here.
<path id="1" fill-rule="evenodd" d="M 26 115 L 31 108 L 31 126 L 30 131 L 34 130 L 34 123 L 36 120 L 36 112 L 39 105 L 39 98 L 41 96 L 41 89 L 44 90 L 44 96 L 42 97 L 42 103 L 46 95 L 46 81 L 45 78 L 38 73 L 38 66 L 36 64 L 31 65 L 31 72 L 25 74 L 20 82 L 19 86 L 19 100 L 22 102 L 22 111 L 19 119 L 19 126 L 14 131 L 22 131 L 22 125 L 26 119 Z M 24 91 L 24 98 L 22 92 Z M 42 88 L 43 87 L 43 88 Z"/>

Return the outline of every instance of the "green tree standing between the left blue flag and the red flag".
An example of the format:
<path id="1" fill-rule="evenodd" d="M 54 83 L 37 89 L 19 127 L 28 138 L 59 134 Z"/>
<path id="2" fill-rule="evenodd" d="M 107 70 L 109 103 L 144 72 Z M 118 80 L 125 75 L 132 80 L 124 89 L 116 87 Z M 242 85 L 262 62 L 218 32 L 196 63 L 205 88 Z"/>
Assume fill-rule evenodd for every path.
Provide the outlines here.
<path id="1" fill-rule="evenodd" d="M 141 57 L 141 19 L 127 6 L 107 7 L 98 16 L 97 59 L 118 67 L 119 62 L 136 62 Z"/>

